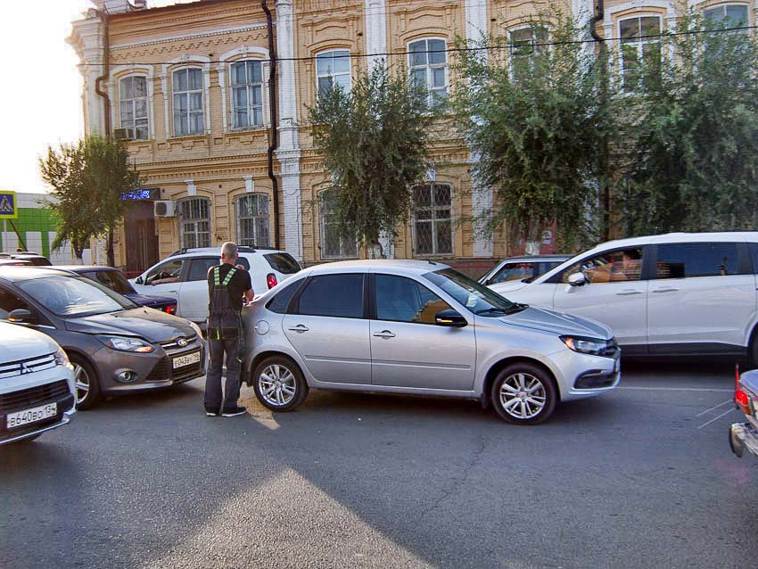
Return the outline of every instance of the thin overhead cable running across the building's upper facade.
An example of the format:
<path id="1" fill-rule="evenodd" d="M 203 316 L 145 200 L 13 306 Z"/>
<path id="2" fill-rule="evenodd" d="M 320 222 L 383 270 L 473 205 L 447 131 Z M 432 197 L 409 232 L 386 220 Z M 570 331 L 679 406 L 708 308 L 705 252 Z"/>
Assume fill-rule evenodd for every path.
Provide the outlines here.
<path id="1" fill-rule="evenodd" d="M 646 36 L 637 36 L 637 37 L 604 37 L 602 39 L 594 39 L 594 38 L 588 38 L 588 39 L 571 39 L 571 40 L 564 40 L 564 41 L 548 41 L 548 42 L 532 42 L 529 45 L 534 47 L 550 47 L 555 45 L 582 45 L 582 44 L 598 44 L 602 42 L 618 42 L 623 40 L 631 40 L 631 41 L 639 41 L 639 40 L 649 40 L 649 39 L 660 39 L 663 37 L 678 37 L 678 36 L 694 36 L 699 34 L 721 34 L 721 33 L 728 33 L 733 31 L 748 31 L 751 29 L 758 29 L 758 26 L 737 26 L 734 28 L 721 28 L 721 29 L 691 29 L 691 30 L 684 30 L 684 31 L 665 31 L 661 32 L 660 34 L 650 34 Z M 435 49 L 435 50 L 429 50 L 426 52 L 409 52 L 408 50 L 401 50 L 401 51 L 395 51 L 395 52 L 379 52 L 374 54 L 347 54 L 341 57 L 349 57 L 350 59 L 365 59 L 369 57 L 394 57 L 398 55 L 408 55 L 408 54 L 414 54 L 414 53 L 433 53 L 433 54 L 450 54 L 450 53 L 466 53 L 466 52 L 486 52 L 490 50 L 503 50 L 503 49 L 510 49 L 511 47 L 516 46 L 517 44 L 505 44 L 505 45 L 473 45 L 473 46 L 466 46 L 466 47 L 448 47 L 445 49 Z M 333 50 L 334 51 L 334 50 Z M 317 55 L 304 55 L 302 57 L 277 57 L 277 62 L 313 62 L 318 59 Z M 260 59 L 256 60 L 260 62 L 270 62 L 270 59 Z M 228 61 L 221 61 L 221 60 L 210 60 L 207 62 L 197 61 L 197 60 L 186 60 L 184 62 L 112 62 L 111 64 L 118 64 L 118 65 L 207 65 L 210 63 L 229 63 Z M 95 62 L 86 62 L 86 63 L 78 63 L 81 67 L 89 67 L 89 66 L 101 66 L 104 65 L 104 63 L 95 63 Z"/>

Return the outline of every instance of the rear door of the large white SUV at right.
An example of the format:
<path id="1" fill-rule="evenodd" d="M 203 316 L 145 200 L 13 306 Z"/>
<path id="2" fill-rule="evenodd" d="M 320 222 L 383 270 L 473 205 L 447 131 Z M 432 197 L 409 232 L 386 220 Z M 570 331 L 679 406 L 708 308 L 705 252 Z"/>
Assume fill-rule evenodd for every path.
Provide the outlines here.
<path id="1" fill-rule="evenodd" d="M 740 274 L 749 271 L 740 269 L 737 243 L 666 243 L 656 252 L 647 301 L 650 353 L 744 346 L 755 321 L 755 277 Z"/>

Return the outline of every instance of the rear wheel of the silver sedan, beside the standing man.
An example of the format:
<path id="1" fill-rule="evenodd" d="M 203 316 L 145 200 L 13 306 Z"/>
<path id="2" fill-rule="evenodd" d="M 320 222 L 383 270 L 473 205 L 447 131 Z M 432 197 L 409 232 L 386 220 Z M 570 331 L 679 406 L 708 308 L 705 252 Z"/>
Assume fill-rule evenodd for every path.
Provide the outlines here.
<path id="1" fill-rule="evenodd" d="M 300 367 L 284 356 L 263 359 L 252 375 L 252 387 L 261 405 L 272 411 L 292 411 L 308 397 Z"/>

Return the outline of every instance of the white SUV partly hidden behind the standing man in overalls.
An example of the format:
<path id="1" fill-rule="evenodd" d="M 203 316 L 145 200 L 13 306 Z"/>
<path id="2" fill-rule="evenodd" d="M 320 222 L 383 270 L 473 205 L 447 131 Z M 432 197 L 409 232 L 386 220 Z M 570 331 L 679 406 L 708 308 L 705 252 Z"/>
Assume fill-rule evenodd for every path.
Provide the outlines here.
<path id="1" fill-rule="evenodd" d="M 250 272 L 252 290 L 265 293 L 301 267 L 287 252 L 239 248 L 239 264 Z M 208 317 L 208 269 L 221 262 L 221 247 L 180 249 L 129 282 L 140 294 L 177 299 L 177 316 L 194 322 Z"/>

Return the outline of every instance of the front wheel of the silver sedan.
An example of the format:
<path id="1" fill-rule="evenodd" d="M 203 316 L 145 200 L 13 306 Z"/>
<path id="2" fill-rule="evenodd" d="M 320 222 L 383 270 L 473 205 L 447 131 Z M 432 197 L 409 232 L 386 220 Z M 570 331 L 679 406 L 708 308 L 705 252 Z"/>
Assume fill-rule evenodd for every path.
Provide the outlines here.
<path id="1" fill-rule="evenodd" d="M 515 363 L 498 373 L 490 392 L 498 415 L 514 425 L 538 425 L 556 408 L 558 391 L 542 367 Z"/>

